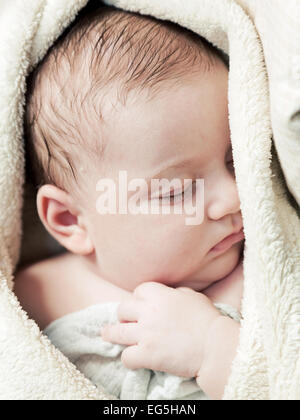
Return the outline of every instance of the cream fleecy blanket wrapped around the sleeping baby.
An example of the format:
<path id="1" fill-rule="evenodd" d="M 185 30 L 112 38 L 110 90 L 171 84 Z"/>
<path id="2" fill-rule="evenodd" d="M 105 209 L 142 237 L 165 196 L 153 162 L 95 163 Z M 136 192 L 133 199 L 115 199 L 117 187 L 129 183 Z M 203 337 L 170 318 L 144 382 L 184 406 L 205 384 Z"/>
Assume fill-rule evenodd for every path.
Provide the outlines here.
<path id="1" fill-rule="evenodd" d="M 2 399 L 111 398 L 51 344 L 35 322 L 28 319 L 12 291 L 21 243 L 26 76 L 86 3 L 87 0 L 0 1 Z M 299 200 L 299 106 L 295 107 L 293 98 L 299 95 L 297 48 L 300 43 L 289 54 L 286 66 L 290 77 L 284 85 L 287 75 L 275 70 L 280 62 L 272 59 L 268 40 L 273 38 L 266 35 L 268 25 L 263 24 L 264 13 L 281 16 L 283 2 L 239 0 L 245 11 L 233 0 L 110 0 L 107 3 L 177 22 L 206 37 L 230 56 L 230 128 L 246 243 L 240 344 L 224 399 L 300 399 L 300 223 L 295 207 L 290 204 L 277 155 L 271 149 L 272 117 L 279 161 L 291 192 Z M 297 4 L 292 0 L 284 2 L 282 27 L 289 26 L 288 18 L 297 21 L 300 12 Z M 253 21 L 258 16 L 267 68 L 259 36 L 247 14 Z M 280 27 L 273 30 L 280 33 Z M 296 40 L 296 36 L 291 33 L 290 39 Z M 284 44 L 278 42 L 278 45 Z M 280 89 L 283 86 L 290 89 L 284 90 L 289 92 L 284 99 L 285 106 L 274 110 L 276 101 L 271 103 L 272 115 L 267 69 L 273 75 L 269 80 L 273 83 L 271 92 L 279 89 L 275 75 L 284 79 Z M 278 104 L 278 96 L 272 95 L 271 99 L 277 98 Z M 291 122 L 288 127 L 292 131 L 287 132 L 287 121 Z M 42 247 L 43 243 L 36 245 Z M 34 252 L 33 248 L 32 258 Z"/>

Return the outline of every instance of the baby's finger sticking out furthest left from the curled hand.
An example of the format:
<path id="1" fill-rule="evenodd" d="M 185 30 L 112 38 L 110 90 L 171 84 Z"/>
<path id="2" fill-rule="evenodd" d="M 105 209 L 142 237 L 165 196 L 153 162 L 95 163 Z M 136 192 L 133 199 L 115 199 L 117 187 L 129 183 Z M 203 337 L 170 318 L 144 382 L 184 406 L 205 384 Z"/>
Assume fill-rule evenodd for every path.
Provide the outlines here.
<path id="1" fill-rule="evenodd" d="M 105 325 L 101 328 L 101 337 L 104 341 L 131 346 L 137 343 L 138 324 L 129 322 L 126 324 Z"/>

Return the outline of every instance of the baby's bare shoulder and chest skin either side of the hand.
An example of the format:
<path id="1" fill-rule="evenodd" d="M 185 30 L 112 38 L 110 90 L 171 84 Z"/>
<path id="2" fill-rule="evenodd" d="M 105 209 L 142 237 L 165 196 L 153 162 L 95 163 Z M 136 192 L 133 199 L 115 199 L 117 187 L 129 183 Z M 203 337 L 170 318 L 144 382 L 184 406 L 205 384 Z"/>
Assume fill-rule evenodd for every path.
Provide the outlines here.
<path id="1" fill-rule="evenodd" d="M 68 313 L 97 303 L 122 302 L 132 294 L 87 272 L 78 256 L 70 253 L 20 270 L 15 277 L 14 292 L 41 330 Z M 239 310 L 243 293 L 242 263 L 202 293 L 213 302 L 227 303 Z"/>

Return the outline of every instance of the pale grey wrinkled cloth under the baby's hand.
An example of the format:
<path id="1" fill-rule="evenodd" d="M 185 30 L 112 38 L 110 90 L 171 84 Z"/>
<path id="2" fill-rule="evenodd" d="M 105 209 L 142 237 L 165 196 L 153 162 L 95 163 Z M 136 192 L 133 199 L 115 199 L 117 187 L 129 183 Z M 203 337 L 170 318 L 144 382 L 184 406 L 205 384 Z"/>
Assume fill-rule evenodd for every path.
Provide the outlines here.
<path id="1" fill-rule="evenodd" d="M 89 306 L 56 319 L 43 331 L 50 341 L 96 386 L 121 400 L 206 400 L 194 378 L 149 369 L 127 369 L 121 362 L 126 346 L 102 340 L 100 328 L 118 323 L 117 302 Z M 239 321 L 228 305 L 216 305 Z"/>

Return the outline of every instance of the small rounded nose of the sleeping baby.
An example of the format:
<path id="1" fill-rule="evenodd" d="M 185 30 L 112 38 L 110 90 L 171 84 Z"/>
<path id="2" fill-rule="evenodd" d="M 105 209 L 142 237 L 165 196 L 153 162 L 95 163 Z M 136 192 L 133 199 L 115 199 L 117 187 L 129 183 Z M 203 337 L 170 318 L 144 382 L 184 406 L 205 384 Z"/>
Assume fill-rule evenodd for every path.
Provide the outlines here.
<path id="1" fill-rule="evenodd" d="M 207 194 L 207 216 L 212 220 L 219 220 L 228 215 L 240 212 L 240 198 L 235 179 L 228 175 L 211 186 L 212 191 Z"/>

